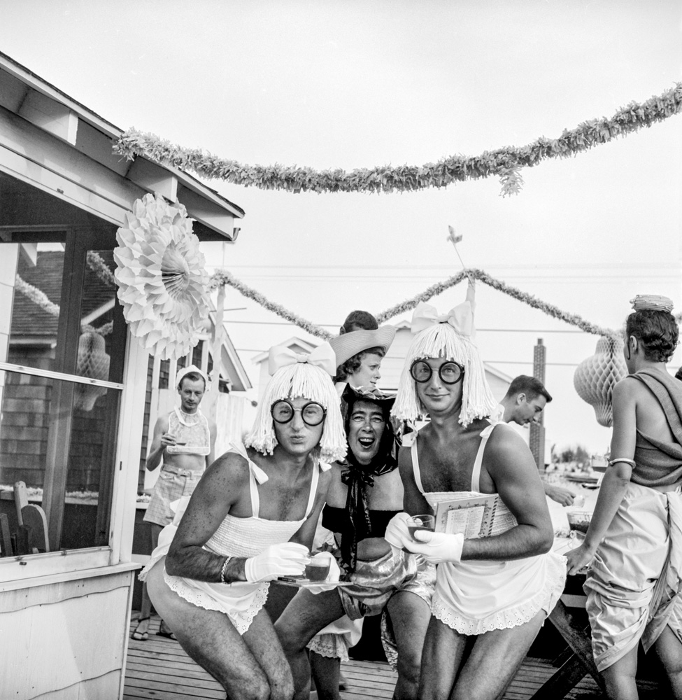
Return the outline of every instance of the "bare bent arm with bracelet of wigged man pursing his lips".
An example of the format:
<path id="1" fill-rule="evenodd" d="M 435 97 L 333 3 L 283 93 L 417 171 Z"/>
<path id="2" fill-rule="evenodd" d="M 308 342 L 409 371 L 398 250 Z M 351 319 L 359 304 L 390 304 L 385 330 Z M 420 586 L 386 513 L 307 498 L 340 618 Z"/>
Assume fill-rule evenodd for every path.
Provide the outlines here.
<path id="1" fill-rule="evenodd" d="M 218 458 L 204 472 L 166 556 L 166 570 L 171 576 L 213 583 L 222 580 L 225 556 L 207 552 L 203 546 L 239 499 L 245 484 L 248 484 L 248 463 L 234 453 Z M 241 557 L 229 561 L 226 582 L 246 580 L 244 561 Z"/>

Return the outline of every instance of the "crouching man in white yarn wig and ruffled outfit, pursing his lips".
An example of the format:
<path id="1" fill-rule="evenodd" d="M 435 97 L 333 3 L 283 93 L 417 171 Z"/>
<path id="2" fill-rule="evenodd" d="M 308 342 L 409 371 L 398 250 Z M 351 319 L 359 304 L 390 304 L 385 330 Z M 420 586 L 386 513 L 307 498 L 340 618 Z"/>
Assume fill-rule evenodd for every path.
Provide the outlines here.
<path id="1" fill-rule="evenodd" d="M 234 698 L 293 692 L 263 606 L 270 581 L 304 572 L 329 486 L 326 462 L 346 454 L 329 344 L 310 355 L 273 348 L 269 364 L 245 444 L 206 470 L 141 575 L 180 645 Z"/>

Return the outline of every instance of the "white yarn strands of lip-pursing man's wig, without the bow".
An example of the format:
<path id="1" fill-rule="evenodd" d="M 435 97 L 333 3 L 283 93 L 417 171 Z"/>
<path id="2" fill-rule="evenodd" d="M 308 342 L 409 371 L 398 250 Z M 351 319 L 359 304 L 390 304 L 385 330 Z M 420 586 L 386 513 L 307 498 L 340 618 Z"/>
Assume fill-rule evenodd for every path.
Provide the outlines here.
<path id="1" fill-rule="evenodd" d="M 307 362 L 294 362 L 280 367 L 270 378 L 258 407 L 255 421 L 244 444 L 262 454 L 272 454 L 277 444 L 270 408 L 284 398 L 307 398 L 327 409 L 318 444 L 323 462 L 341 461 L 346 456 L 346 433 L 341 419 L 341 400 L 332 383 L 332 377 L 321 367 Z"/>

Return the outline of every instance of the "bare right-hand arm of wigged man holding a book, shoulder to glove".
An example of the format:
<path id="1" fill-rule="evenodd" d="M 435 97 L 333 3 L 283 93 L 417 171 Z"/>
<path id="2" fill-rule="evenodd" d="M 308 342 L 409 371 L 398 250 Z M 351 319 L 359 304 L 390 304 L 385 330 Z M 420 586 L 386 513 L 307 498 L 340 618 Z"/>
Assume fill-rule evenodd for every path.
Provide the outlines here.
<path id="1" fill-rule="evenodd" d="M 464 540 L 462 559 L 506 561 L 544 554 L 554 533 L 537 466 L 527 445 L 513 430 L 490 435 L 483 464 L 497 491 L 518 522 L 493 537 Z"/>

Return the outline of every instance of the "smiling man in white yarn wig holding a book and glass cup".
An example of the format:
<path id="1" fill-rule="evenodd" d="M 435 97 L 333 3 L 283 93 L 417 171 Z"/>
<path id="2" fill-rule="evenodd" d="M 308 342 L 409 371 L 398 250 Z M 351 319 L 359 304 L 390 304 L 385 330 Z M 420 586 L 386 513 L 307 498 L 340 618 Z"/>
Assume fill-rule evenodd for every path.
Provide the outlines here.
<path id="1" fill-rule="evenodd" d="M 552 522 L 530 449 L 497 421 L 471 341 L 473 297 L 470 286 L 467 301 L 445 316 L 427 304 L 415 309 L 417 335 L 393 409 L 401 420 L 429 417 L 403 438 L 404 512 L 385 533 L 393 547 L 436 564 L 420 698 L 502 696 L 566 577 L 563 557 L 549 551 Z M 471 492 L 495 499 L 495 535 L 465 539 L 449 520 L 446 531 L 414 530 L 411 516 Z"/>

